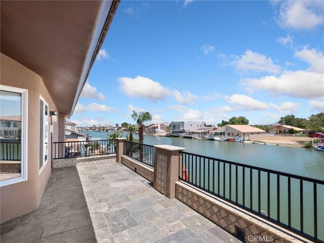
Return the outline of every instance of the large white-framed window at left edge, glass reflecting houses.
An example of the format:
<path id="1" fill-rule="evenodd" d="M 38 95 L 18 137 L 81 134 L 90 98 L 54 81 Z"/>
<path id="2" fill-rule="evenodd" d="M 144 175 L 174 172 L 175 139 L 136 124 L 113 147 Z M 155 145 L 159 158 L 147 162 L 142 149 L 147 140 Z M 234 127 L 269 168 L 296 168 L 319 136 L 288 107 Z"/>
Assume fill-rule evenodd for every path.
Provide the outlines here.
<path id="1" fill-rule="evenodd" d="M 0 186 L 27 180 L 28 91 L 0 85 Z"/>

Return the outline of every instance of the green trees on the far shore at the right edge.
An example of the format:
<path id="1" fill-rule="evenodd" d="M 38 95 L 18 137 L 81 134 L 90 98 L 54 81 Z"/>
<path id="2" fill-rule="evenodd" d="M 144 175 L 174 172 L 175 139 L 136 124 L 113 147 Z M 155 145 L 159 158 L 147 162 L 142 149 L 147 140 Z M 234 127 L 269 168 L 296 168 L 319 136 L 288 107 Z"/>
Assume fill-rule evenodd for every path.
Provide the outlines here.
<path id="1" fill-rule="evenodd" d="M 298 118 L 295 115 L 282 116 L 279 121 L 281 125 L 288 125 L 302 129 L 311 130 L 313 133 L 322 131 L 324 127 L 324 113 L 312 114 L 306 118 Z"/>

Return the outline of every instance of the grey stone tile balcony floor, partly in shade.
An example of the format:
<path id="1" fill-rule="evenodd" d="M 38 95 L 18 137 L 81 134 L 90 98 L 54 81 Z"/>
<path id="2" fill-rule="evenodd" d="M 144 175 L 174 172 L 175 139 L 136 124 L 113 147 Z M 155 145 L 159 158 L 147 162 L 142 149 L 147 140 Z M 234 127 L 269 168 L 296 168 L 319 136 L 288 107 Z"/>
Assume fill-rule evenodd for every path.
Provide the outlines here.
<path id="1" fill-rule="evenodd" d="M 1 225 L 1 242 L 240 242 L 124 165 L 54 169 L 41 207 Z"/>

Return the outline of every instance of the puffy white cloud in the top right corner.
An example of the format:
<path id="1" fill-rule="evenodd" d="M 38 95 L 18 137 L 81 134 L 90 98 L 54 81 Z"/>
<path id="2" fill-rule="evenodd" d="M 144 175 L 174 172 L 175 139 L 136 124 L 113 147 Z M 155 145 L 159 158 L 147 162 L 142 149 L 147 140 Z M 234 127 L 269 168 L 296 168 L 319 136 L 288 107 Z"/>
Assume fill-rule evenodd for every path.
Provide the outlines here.
<path id="1" fill-rule="evenodd" d="M 278 23 L 282 27 L 312 29 L 323 24 L 322 1 L 285 1 L 280 5 Z"/>

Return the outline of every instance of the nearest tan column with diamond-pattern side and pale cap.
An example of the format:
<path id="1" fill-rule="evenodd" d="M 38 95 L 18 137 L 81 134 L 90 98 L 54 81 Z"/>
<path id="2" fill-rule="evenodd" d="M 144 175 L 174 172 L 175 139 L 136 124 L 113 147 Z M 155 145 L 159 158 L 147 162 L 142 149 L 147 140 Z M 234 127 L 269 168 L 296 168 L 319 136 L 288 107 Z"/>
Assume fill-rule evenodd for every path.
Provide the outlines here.
<path id="1" fill-rule="evenodd" d="M 155 145 L 153 187 L 161 194 L 176 197 L 176 182 L 179 180 L 179 165 L 185 148 L 171 145 Z"/>

